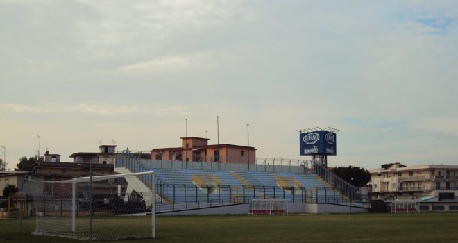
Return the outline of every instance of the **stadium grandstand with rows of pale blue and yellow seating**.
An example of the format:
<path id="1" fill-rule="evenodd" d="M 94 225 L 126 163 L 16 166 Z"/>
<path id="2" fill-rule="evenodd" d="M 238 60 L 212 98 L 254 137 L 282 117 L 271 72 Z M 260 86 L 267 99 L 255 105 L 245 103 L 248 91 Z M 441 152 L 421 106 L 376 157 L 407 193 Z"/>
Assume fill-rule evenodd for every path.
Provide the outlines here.
<path id="1" fill-rule="evenodd" d="M 248 166 L 150 160 L 142 154 L 119 151 L 115 171 L 155 171 L 158 214 L 244 214 L 253 199 L 285 200 L 289 213 L 367 212 L 359 188 L 312 160 L 257 158 Z"/>

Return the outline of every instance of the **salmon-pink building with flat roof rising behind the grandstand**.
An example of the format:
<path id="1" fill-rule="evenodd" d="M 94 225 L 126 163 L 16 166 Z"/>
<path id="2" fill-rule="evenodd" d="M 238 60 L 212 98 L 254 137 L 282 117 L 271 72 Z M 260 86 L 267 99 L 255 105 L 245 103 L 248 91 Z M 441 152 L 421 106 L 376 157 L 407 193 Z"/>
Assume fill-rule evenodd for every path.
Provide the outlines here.
<path id="1" fill-rule="evenodd" d="M 151 150 L 151 160 L 180 160 L 201 162 L 235 162 L 254 164 L 256 149 L 233 144 L 208 145 L 208 138 L 180 137 L 181 146 Z"/>

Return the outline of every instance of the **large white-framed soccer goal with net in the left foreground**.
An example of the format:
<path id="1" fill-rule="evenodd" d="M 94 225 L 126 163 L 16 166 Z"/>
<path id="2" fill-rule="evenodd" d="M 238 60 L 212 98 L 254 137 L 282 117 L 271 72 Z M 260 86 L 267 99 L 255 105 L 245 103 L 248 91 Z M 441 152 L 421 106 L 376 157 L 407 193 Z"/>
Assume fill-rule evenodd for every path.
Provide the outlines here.
<path id="1" fill-rule="evenodd" d="M 155 238 L 153 171 L 24 182 L 36 235 L 80 240 Z"/>

